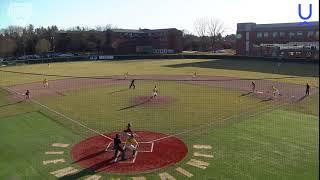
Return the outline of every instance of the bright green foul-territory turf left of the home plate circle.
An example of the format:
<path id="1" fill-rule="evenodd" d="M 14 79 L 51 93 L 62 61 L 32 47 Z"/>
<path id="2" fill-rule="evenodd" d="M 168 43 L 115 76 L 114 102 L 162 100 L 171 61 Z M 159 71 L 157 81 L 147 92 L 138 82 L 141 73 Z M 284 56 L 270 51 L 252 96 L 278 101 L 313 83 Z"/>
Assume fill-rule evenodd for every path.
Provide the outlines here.
<path id="1" fill-rule="evenodd" d="M 78 135 L 53 122 L 39 112 L 26 112 L 0 118 L 1 179 L 55 179 L 49 175 L 59 166 L 42 165 L 42 161 L 64 158 L 71 162 L 69 151 L 64 155 L 45 155 L 58 150 L 52 143 L 74 143 Z"/>

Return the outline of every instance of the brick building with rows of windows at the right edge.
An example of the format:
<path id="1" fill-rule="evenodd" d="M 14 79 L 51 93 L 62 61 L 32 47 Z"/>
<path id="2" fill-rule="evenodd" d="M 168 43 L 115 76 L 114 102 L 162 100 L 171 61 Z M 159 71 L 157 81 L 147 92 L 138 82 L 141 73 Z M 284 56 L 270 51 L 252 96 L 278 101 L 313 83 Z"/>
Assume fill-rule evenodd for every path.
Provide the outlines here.
<path id="1" fill-rule="evenodd" d="M 319 21 L 237 24 L 237 55 L 319 59 Z"/>

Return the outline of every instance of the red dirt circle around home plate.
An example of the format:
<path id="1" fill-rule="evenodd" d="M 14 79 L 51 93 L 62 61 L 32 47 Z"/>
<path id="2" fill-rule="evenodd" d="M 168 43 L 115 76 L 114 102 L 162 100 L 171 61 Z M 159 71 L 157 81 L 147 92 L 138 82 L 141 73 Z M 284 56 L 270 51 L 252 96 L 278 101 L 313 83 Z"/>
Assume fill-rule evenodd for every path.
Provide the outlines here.
<path id="1" fill-rule="evenodd" d="M 105 134 L 115 137 L 116 133 Z M 126 151 L 126 160 L 121 156 L 113 159 L 113 141 L 103 136 L 94 136 L 74 145 L 71 156 L 74 163 L 87 170 L 112 174 L 138 174 L 155 171 L 181 161 L 188 153 L 187 146 L 177 137 L 166 134 L 135 132 L 139 143 L 136 156 Z M 163 138 L 159 141 L 153 141 Z M 124 141 L 124 139 L 122 139 Z"/>

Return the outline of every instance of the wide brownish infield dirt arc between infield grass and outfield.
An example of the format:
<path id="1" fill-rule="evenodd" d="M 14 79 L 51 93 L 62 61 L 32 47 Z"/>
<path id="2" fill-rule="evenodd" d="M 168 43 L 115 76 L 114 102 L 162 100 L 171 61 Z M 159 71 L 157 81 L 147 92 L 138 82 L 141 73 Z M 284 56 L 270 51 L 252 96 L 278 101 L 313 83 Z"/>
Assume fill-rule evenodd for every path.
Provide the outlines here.
<path id="1" fill-rule="evenodd" d="M 100 78 L 70 78 L 62 80 L 49 81 L 49 88 L 43 87 L 42 82 L 29 83 L 11 86 L 10 88 L 25 93 L 28 89 L 32 97 L 41 96 L 64 96 L 65 91 L 77 90 L 81 88 L 96 88 L 112 84 L 126 83 L 130 84 L 131 79 L 136 81 L 175 81 L 180 83 L 203 84 L 213 87 L 240 90 L 243 96 L 255 96 L 262 100 L 275 100 L 283 102 L 299 102 L 305 98 L 305 86 L 291 83 L 276 82 L 276 80 L 267 79 L 241 79 L 223 76 L 197 76 L 186 75 L 130 75 L 127 79 L 123 76 L 110 76 Z M 255 93 L 252 91 L 251 82 L 256 84 Z M 275 86 L 280 95 L 273 95 L 272 86 Z M 318 93 L 319 89 L 312 87 L 310 94 Z M 133 101 L 140 102 L 143 98 Z M 167 100 L 167 99 L 166 99 Z"/>

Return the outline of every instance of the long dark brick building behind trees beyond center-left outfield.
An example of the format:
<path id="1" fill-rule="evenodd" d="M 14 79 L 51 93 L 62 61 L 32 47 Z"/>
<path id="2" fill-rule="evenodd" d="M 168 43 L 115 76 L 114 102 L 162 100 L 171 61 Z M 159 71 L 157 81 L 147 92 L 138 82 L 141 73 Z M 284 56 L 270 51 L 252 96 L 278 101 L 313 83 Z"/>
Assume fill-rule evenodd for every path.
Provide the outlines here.
<path id="1" fill-rule="evenodd" d="M 111 29 L 65 31 L 55 37 L 56 51 L 96 51 L 106 54 L 179 53 L 182 31 L 170 29 Z"/>

